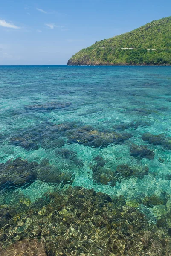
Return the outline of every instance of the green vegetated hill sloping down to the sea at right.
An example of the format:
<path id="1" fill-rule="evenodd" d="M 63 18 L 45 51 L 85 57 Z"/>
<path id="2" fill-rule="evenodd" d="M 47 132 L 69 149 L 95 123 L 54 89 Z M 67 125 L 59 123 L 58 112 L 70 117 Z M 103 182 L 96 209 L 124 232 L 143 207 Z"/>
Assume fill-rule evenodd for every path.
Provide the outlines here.
<path id="1" fill-rule="evenodd" d="M 73 55 L 67 64 L 171 65 L 171 17 L 96 42 Z"/>

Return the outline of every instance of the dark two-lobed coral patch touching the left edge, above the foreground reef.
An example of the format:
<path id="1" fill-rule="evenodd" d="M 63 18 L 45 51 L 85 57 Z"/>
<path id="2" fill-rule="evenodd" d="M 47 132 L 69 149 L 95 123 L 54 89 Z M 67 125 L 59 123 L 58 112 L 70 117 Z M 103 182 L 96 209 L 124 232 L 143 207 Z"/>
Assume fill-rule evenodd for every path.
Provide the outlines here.
<path id="1" fill-rule="evenodd" d="M 65 167 L 65 166 L 64 166 Z M 28 183 L 30 185 L 36 179 L 50 183 L 72 183 L 74 173 L 73 165 L 59 169 L 42 160 L 40 164 L 28 162 L 20 157 L 0 163 L 0 189 L 16 189 Z"/>

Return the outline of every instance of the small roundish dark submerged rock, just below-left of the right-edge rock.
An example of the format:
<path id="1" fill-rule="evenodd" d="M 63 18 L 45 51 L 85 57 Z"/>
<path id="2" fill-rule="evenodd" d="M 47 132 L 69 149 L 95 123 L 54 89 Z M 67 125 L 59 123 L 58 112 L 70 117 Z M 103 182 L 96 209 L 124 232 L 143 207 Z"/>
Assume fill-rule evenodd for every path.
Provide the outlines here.
<path id="1" fill-rule="evenodd" d="M 140 157 L 140 158 L 148 158 L 149 160 L 154 159 L 154 152 L 151 149 L 148 149 L 147 146 L 144 145 L 136 145 L 132 144 L 130 147 L 130 155 L 133 157 Z"/>

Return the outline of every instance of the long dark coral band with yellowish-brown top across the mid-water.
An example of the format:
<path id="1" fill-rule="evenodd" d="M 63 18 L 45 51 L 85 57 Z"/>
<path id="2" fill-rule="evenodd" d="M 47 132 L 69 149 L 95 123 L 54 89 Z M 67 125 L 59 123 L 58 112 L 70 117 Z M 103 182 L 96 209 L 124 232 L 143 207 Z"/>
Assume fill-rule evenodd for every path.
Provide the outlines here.
<path id="1" fill-rule="evenodd" d="M 123 143 L 131 137 L 129 133 L 119 134 L 115 131 L 99 131 L 92 126 L 80 126 L 75 123 L 54 125 L 42 122 L 27 131 L 19 130 L 10 138 L 10 144 L 26 150 L 42 148 L 57 148 L 68 143 L 79 143 L 91 147 L 107 147 L 110 144 Z"/>

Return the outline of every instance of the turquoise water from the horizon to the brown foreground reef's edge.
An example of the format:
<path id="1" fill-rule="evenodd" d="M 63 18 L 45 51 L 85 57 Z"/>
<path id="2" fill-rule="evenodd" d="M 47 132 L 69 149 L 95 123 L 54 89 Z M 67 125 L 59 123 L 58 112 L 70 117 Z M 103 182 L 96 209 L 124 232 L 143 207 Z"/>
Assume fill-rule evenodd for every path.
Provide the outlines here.
<path id="1" fill-rule="evenodd" d="M 33 209 L 70 186 L 122 196 L 170 237 L 171 67 L 0 66 L 0 209 L 12 216 L 2 234 L 16 230 L 20 202 Z M 26 237 L 7 236 L 3 250 Z"/>

